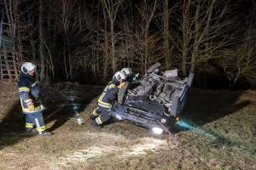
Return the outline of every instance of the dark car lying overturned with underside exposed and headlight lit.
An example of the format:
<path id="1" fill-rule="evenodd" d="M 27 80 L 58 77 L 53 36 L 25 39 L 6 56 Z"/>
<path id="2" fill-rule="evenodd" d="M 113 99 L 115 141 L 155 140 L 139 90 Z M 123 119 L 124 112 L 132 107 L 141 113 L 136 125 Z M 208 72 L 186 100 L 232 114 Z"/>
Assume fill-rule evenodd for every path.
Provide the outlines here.
<path id="1" fill-rule="evenodd" d="M 172 131 L 183 111 L 194 73 L 181 79 L 177 71 L 161 72 L 159 67 L 160 63 L 155 63 L 138 82 L 125 83 L 112 107 L 112 116 L 157 134 Z"/>

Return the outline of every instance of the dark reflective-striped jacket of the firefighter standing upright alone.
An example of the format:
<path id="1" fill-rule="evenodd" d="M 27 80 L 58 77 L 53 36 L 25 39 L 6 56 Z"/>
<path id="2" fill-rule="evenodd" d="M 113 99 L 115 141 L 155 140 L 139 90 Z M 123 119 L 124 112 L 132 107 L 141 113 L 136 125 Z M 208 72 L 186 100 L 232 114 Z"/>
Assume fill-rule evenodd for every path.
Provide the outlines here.
<path id="1" fill-rule="evenodd" d="M 20 94 L 20 104 L 22 107 L 22 112 L 25 114 L 38 113 L 45 110 L 44 105 L 42 105 L 39 99 L 39 87 L 38 81 L 35 77 L 29 76 L 25 73 L 20 74 L 20 79 L 18 82 L 19 94 Z M 29 111 L 28 102 L 32 100 L 34 105 L 34 111 Z"/>

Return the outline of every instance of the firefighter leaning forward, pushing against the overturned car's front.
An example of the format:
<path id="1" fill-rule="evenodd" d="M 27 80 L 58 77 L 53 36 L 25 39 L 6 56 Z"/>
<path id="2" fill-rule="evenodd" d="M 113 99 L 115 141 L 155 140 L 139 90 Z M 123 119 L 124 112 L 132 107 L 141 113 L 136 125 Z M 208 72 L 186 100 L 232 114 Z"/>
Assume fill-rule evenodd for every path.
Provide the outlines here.
<path id="1" fill-rule="evenodd" d="M 113 76 L 113 81 L 108 82 L 106 88 L 98 99 L 98 106 L 91 113 L 90 119 L 92 126 L 100 126 L 104 122 L 108 122 L 111 118 L 109 111 L 114 101 L 117 100 L 119 88 L 125 83 L 125 74 L 122 71 L 118 71 Z"/>

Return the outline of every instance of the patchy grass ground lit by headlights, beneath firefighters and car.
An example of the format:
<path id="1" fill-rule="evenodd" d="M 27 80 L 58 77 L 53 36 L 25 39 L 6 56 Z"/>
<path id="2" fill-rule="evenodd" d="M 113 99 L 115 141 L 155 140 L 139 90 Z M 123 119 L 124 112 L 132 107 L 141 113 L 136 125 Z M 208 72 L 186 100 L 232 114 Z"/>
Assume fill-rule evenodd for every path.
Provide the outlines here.
<path id="1" fill-rule="evenodd" d="M 24 135 L 16 84 L 0 82 L 0 169 L 256 169 L 256 92 L 193 89 L 177 143 L 168 143 L 128 122 L 91 128 L 102 87 L 63 82 L 42 91 L 54 135 Z"/>

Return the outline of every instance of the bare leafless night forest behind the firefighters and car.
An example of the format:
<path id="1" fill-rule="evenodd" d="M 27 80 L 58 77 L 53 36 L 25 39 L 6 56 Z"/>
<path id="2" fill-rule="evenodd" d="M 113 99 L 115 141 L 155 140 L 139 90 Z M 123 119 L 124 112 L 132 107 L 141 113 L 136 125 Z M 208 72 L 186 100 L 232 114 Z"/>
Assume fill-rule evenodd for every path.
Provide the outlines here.
<path id="1" fill-rule="evenodd" d="M 15 23 L 17 60 L 41 81 L 102 83 L 123 67 L 143 74 L 160 61 L 195 84 L 256 82 L 253 0 L 3 0 Z M 214 81 L 212 81 L 213 83 Z M 216 80 L 215 80 L 216 82 Z M 219 82 L 218 82 L 219 83 Z"/>

